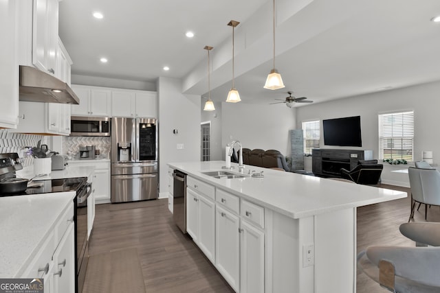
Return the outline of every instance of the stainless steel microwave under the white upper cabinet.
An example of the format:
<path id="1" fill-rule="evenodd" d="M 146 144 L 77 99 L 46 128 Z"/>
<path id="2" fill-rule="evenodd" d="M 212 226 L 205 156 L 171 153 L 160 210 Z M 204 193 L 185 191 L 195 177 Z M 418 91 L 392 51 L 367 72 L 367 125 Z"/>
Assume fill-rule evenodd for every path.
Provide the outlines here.
<path id="1" fill-rule="evenodd" d="M 70 118 L 71 137 L 109 137 L 109 117 L 80 117 Z"/>

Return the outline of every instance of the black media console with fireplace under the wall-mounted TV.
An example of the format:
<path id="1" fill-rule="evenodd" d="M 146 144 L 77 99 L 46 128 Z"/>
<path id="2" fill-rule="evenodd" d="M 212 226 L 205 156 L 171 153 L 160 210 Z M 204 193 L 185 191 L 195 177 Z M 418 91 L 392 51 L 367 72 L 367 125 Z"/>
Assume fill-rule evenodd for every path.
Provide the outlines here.
<path id="1" fill-rule="evenodd" d="M 372 160 L 372 150 L 311 150 L 311 169 L 317 176 L 340 177 L 340 169 L 351 170 L 359 160 Z"/>

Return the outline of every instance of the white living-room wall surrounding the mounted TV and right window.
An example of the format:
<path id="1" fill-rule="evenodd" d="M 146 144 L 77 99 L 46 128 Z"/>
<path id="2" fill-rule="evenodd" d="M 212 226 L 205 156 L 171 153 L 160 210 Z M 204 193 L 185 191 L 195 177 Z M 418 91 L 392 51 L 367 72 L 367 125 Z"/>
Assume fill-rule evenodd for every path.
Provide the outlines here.
<path id="1" fill-rule="evenodd" d="M 302 121 L 311 119 L 330 119 L 360 115 L 362 128 L 362 148 L 345 148 L 357 150 L 373 150 L 373 157 L 377 159 L 379 149 L 378 121 L 380 113 L 396 110 L 414 110 L 415 138 L 414 159 L 421 160 L 422 150 L 434 152 L 434 163 L 440 162 L 440 136 L 437 130 L 437 117 L 440 109 L 440 82 L 410 86 L 404 89 L 383 91 L 347 99 L 338 99 L 333 102 L 312 104 L 300 107 L 297 110 L 297 125 Z M 321 122 L 321 148 L 341 148 L 325 146 L 322 141 Z M 409 186 L 408 175 L 392 173 L 393 169 L 403 169 L 406 166 L 392 166 L 384 164 L 382 183 Z"/>

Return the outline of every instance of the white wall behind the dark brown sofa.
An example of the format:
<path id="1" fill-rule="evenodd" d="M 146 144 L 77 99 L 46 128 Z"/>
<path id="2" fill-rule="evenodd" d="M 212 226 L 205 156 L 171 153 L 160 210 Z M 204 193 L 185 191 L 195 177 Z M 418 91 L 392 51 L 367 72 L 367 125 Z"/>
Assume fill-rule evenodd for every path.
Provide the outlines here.
<path id="1" fill-rule="evenodd" d="M 284 104 L 254 105 L 226 103 L 222 105 L 221 145 L 224 149 L 232 139 L 238 139 L 243 148 L 278 150 L 290 155 L 289 130 L 296 129 L 295 108 Z"/>

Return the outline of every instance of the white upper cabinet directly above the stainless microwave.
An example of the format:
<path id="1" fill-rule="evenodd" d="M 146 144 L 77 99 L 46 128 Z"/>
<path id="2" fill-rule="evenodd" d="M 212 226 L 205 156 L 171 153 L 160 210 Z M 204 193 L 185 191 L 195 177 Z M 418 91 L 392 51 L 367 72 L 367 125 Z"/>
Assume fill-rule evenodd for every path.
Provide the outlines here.
<path id="1" fill-rule="evenodd" d="M 111 91 L 96 86 L 72 85 L 72 89 L 80 99 L 79 105 L 72 105 L 72 115 L 79 116 L 110 116 Z"/>

